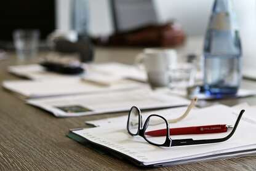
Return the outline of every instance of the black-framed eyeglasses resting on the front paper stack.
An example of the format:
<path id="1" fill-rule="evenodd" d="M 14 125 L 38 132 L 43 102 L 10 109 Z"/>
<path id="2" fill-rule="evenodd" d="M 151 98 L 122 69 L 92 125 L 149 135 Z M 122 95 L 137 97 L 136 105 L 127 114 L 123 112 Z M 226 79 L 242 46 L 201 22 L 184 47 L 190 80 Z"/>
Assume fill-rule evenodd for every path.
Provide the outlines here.
<path id="1" fill-rule="evenodd" d="M 193 103 L 193 101 L 191 102 Z M 193 105 L 193 104 L 192 104 Z M 172 121 L 180 121 L 181 119 L 185 118 L 188 115 L 189 111 L 191 110 L 191 106 L 188 106 L 186 112 L 177 119 L 173 119 Z M 223 138 L 215 138 L 215 139 L 205 139 L 205 140 L 193 140 L 192 138 L 187 139 L 176 139 L 172 140 L 170 138 L 170 129 L 169 123 L 167 122 L 166 118 L 159 116 L 158 114 L 151 114 L 146 118 L 144 124 L 142 124 L 142 114 L 140 113 L 140 109 L 136 106 L 132 106 L 129 111 L 128 121 L 127 121 L 127 130 L 130 135 L 135 136 L 139 135 L 143 137 L 148 143 L 155 146 L 184 146 L 184 145 L 201 145 L 201 144 L 208 144 L 208 143 L 220 143 L 223 141 L 228 140 L 238 127 L 239 121 L 244 113 L 244 109 L 242 109 L 239 113 L 238 119 L 234 124 L 233 130 Z M 154 125 L 154 127 L 152 126 Z M 153 137 L 150 135 L 146 135 L 146 132 L 149 132 L 154 129 L 166 129 L 166 136 L 162 137 Z"/>

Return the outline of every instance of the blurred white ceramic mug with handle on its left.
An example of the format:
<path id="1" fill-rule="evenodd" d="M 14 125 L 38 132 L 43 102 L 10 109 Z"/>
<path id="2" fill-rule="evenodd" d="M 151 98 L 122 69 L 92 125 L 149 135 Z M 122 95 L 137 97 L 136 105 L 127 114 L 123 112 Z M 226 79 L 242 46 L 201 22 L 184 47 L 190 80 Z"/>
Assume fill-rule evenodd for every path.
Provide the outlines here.
<path id="1" fill-rule="evenodd" d="M 166 87 L 169 84 L 168 70 L 177 65 L 177 52 L 174 49 L 144 49 L 135 62 L 145 68 L 151 87 Z"/>

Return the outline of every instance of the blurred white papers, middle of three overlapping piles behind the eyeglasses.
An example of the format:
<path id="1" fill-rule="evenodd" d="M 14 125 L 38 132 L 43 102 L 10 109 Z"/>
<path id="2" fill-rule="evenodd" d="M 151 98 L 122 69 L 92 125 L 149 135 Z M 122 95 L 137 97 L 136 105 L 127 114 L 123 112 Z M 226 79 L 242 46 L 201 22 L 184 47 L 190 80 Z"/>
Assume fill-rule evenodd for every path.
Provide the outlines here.
<path id="1" fill-rule="evenodd" d="M 47 79 L 42 81 L 4 81 L 2 86 L 26 98 L 100 93 L 148 87 L 146 84 L 125 79 L 120 79 L 111 85 L 103 85 L 80 78 Z"/>

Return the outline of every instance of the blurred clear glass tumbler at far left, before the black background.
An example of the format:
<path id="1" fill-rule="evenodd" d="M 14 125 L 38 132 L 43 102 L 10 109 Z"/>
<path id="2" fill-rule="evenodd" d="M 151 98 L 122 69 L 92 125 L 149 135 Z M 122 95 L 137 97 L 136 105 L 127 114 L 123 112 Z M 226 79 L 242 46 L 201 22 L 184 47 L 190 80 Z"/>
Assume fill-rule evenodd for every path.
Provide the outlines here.
<path id="1" fill-rule="evenodd" d="M 15 30 L 14 46 L 18 60 L 32 60 L 38 53 L 39 30 Z"/>

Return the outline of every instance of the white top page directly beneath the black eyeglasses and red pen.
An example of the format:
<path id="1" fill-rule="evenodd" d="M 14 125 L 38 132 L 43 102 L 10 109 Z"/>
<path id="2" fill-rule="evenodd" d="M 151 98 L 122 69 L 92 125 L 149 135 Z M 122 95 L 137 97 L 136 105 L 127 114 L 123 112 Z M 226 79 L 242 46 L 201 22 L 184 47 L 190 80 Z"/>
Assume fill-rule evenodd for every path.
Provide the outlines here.
<path id="1" fill-rule="evenodd" d="M 232 114 L 232 109 L 224 108 L 223 106 L 214 107 L 215 108 L 198 111 L 197 114 L 200 116 L 191 117 L 190 115 L 190 118 L 185 118 L 184 121 L 186 120 L 186 124 L 190 123 L 191 125 L 196 125 L 199 123 L 217 124 L 222 121 L 226 122 L 227 124 L 234 124 L 236 121 L 236 116 Z M 182 122 L 176 125 L 185 125 Z M 255 130 L 256 126 L 246 121 L 241 121 L 233 137 L 223 143 L 178 146 L 171 148 L 159 148 L 157 146 L 150 145 L 141 137 L 131 137 L 127 133 L 125 127 L 125 125 L 123 127 L 97 127 L 94 129 L 83 129 L 73 132 L 81 135 L 84 138 L 87 138 L 90 141 L 126 154 L 137 161 L 143 162 L 144 164 L 154 164 L 170 161 L 175 162 L 185 159 L 193 159 L 194 157 L 217 155 L 230 151 L 238 151 L 239 149 L 253 149 L 256 145 L 256 135 L 248 131 Z M 220 138 L 225 137 L 227 134 L 228 133 L 176 135 L 172 136 L 172 138 L 193 138 L 196 140 L 202 138 Z"/>

